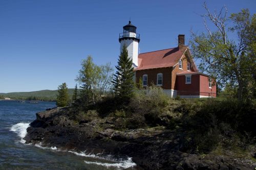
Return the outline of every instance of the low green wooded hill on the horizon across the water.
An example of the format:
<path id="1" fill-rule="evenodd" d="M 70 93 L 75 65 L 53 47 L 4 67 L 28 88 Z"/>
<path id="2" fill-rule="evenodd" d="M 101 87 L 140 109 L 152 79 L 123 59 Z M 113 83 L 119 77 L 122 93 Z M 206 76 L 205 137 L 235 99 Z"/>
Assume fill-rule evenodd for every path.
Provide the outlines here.
<path id="1" fill-rule="evenodd" d="M 69 95 L 72 96 L 74 88 L 68 89 Z M 11 92 L 11 93 L 0 93 L 0 99 L 11 98 L 19 100 L 56 100 L 58 90 L 40 90 L 30 92 Z"/>

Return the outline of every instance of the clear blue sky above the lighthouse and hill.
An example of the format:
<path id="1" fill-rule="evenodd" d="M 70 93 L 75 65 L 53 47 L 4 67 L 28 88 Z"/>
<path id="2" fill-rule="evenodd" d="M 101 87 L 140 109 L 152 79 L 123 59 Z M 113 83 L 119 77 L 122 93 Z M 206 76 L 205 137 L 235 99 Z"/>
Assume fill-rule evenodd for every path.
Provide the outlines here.
<path id="1" fill-rule="evenodd" d="M 140 52 L 177 46 L 178 34 L 205 31 L 204 1 L 0 1 L 0 92 L 74 88 L 81 59 L 117 63 L 119 33 L 131 17 L 141 35 Z M 228 14 L 256 1 L 206 1 Z M 211 27 L 211 26 L 210 26 Z"/>

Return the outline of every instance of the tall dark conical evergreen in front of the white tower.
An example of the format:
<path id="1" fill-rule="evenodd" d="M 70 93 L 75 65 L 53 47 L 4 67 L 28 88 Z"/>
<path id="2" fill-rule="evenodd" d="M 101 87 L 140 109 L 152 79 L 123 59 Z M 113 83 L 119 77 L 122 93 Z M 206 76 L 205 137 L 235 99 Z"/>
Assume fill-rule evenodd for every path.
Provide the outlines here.
<path id="1" fill-rule="evenodd" d="M 122 52 L 118 59 L 118 65 L 116 66 L 116 74 L 112 81 L 114 85 L 115 95 L 130 98 L 133 95 L 134 81 L 133 81 L 133 62 L 128 57 L 128 51 L 126 45 L 123 45 Z"/>

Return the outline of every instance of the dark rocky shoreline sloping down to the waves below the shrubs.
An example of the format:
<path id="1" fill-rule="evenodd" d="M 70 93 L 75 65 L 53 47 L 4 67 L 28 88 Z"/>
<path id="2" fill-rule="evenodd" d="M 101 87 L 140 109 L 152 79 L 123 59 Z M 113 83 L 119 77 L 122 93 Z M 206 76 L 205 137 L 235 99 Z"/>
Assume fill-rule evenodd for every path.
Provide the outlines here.
<path id="1" fill-rule="evenodd" d="M 166 129 L 114 130 L 111 118 L 98 122 L 74 122 L 69 108 L 54 108 L 36 113 L 27 129 L 27 143 L 42 143 L 113 159 L 132 157 L 135 167 L 129 169 L 254 169 L 256 163 L 245 158 L 182 152 L 182 132 Z M 100 125 L 100 126 L 99 126 Z"/>

